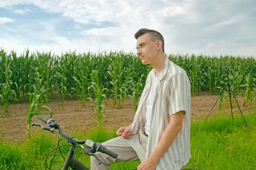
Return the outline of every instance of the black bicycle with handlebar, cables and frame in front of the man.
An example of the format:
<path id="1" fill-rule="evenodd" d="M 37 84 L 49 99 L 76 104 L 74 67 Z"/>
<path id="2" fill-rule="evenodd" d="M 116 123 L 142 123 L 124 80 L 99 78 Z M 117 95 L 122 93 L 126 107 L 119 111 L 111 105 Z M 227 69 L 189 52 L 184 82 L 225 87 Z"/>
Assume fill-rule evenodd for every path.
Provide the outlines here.
<path id="1" fill-rule="evenodd" d="M 116 159 L 118 156 L 118 154 L 113 153 L 111 150 L 108 150 L 106 147 L 102 146 L 102 144 L 99 142 L 95 143 L 90 139 L 77 140 L 77 139 L 74 139 L 72 136 L 65 134 L 62 131 L 61 126 L 58 125 L 54 119 L 49 119 L 42 115 L 38 115 L 38 119 L 43 121 L 46 125 L 44 126 L 44 125 L 40 125 L 37 123 L 33 123 L 32 126 L 40 126 L 40 127 L 42 127 L 43 130 L 49 130 L 50 132 L 55 133 L 55 134 L 58 133 L 59 135 L 63 136 L 64 139 L 66 139 L 66 142 L 70 142 L 70 144 L 71 144 L 71 145 L 59 146 L 59 142 L 62 139 L 58 139 L 57 147 L 55 149 L 53 149 L 52 151 L 54 151 L 54 150 L 57 151 L 57 149 L 60 150 L 60 147 L 64 147 L 64 146 L 71 146 L 71 147 L 69 149 L 66 159 L 64 159 L 64 156 L 61 153 L 61 156 L 63 157 L 63 159 L 65 161 L 64 166 L 61 169 L 55 169 L 55 170 L 68 170 L 69 167 L 71 168 L 71 170 L 89 170 L 84 164 L 82 164 L 78 159 L 76 159 L 76 153 L 75 153 L 76 147 L 82 148 L 87 155 L 94 156 L 99 161 L 99 164 L 101 164 L 102 161 L 99 159 L 98 156 L 96 156 L 96 154 L 95 154 L 96 152 L 105 153 L 114 159 Z M 55 130 L 58 129 L 59 132 L 55 131 L 53 128 Z M 56 136 L 58 138 L 57 134 L 56 134 Z M 77 146 L 77 144 L 79 146 Z M 84 147 L 81 144 L 85 144 L 87 147 Z M 49 154 L 52 153 L 52 151 L 50 151 Z M 55 153 L 56 153 L 56 151 L 55 151 Z M 60 150 L 60 152 L 61 152 L 61 150 Z M 47 155 L 47 157 L 45 159 L 45 164 L 49 170 L 52 170 L 52 169 L 50 169 L 52 162 L 51 162 L 50 168 L 47 166 L 47 158 L 48 158 L 49 154 Z M 55 157 L 55 154 L 52 158 L 52 161 L 53 161 L 54 157 Z M 137 170 L 137 169 L 134 169 L 134 170 Z M 197 170 L 197 169 L 182 169 L 182 170 Z"/>

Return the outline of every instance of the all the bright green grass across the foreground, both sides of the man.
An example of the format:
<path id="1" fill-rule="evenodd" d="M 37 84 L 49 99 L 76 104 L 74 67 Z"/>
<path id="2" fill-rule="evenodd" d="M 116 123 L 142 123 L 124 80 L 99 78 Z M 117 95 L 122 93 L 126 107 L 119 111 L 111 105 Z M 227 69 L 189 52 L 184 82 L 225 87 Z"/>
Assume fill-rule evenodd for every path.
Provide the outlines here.
<path id="1" fill-rule="evenodd" d="M 241 113 L 228 115 L 212 114 L 206 122 L 205 118 L 192 121 L 191 124 L 191 155 L 186 168 L 199 170 L 253 170 L 256 167 L 256 111 L 244 115 L 248 128 L 245 127 Z M 39 128 L 39 127 L 33 127 Z M 65 129 L 63 129 L 65 132 Z M 76 139 L 91 139 L 104 142 L 117 135 L 117 129 L 107 130 L 105 127 L 91 128 L 87 133 L 76 126 L 70 134 Z M 32 140 L 20 142 L 0 141 L 1 170 L 47 170 L 45 159 L 47 154 L 56 147 L 57 138 L 50 132 L 33 133 Z M 67 144 L 64 140 L 61 145 Z M 62 147 L 64 157 L 69 147 Z M 50 154 L 49 166 L 54 152 Z M 52 169 L 61 168 L 64 160 L 59 150 L 53 161 Z M 90 156 L 77 148 L 76 158 L 90 167 Z M 135 169 L 140 161 L 115 163 L 111 170 Z M 185 168 L 184 167 L 184 168 Z"/>

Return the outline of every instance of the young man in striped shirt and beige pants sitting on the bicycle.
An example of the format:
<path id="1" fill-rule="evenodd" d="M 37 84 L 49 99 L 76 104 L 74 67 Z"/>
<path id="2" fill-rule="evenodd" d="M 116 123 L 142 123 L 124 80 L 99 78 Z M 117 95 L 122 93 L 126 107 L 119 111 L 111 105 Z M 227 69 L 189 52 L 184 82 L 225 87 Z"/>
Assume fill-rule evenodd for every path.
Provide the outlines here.
<path id="1" fill-rule="evenodd" d="M 102 164 L 91 157 L 91 169 L 109 170 L 114 162 L 140 160 L 138 170 L 180 170 L 191 158 L 189 78 L 165 56 L 159 32 L 143 28 L 135 38 L 142 64 L 153 69 L 133 123 L 120 127 L 116 131 L 119 137 L 102 144 L 117 153 L 117 159 L 97 152 Z"/>

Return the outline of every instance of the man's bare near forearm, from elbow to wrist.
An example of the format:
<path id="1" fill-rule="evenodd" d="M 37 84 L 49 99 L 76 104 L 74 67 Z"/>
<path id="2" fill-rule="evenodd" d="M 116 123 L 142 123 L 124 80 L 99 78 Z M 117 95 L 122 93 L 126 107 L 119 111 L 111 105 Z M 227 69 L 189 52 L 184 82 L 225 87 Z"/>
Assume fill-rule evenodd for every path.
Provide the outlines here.
<path id="1" fill-rule="evenodd" d="M 157 146 L 150 154 L 148 159 L 150 159 L 153 163 L 158 162 L 158 160 L 166 153 L 168 148 L 172 145 L 175 137 L 179 133 L 180 129 L 182 128 L 182 124 L 169 124 L 163 132 L 163 135 L 160 138 Z"/>

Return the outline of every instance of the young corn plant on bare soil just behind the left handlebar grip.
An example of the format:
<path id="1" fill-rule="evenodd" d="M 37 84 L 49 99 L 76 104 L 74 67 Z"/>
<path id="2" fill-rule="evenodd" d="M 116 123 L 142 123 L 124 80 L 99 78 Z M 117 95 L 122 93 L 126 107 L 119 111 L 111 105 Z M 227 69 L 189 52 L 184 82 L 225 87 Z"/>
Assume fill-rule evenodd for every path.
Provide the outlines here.
<path id="1" fill-rule="evenodd" d="M 42 94 L 42 93 L 41 93 Z M 30 95 L 30 98 L 29 98 L 29 113 L 28 113 L 28 117 L 27 117 L 27 135 L 29 137 L 29 139 L 31 139 L 31 121 L 32 121 L 32 118 L 35 116 L 35 115 L 39 115 L 41 114 L 41 108 L 46 108 L 47 110 L 49 110 L 50 112 L 50 118 L 52 118 L 52 109 L 49 108 L 47 105 L 43 105 L 43 106 L 40 106 L 39 104 L 39 98 L 41 96 L 41 94 L 35 94 L 35 93 L 32 93 Z M 36 111 L 37 110 L 37 111 Z"/>

